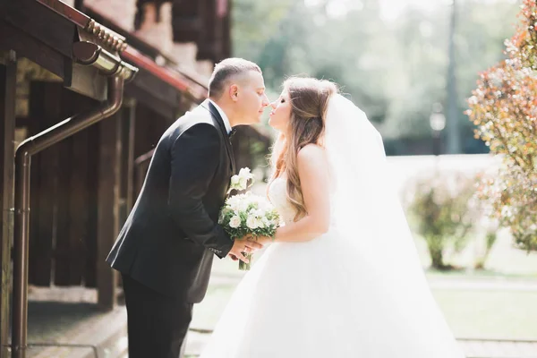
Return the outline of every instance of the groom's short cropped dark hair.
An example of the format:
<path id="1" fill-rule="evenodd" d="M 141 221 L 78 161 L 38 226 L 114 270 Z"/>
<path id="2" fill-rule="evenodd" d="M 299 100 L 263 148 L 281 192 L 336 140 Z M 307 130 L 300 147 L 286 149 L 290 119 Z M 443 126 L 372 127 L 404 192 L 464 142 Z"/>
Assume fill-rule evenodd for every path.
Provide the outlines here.
<path id="1" fill-rule="evenodd" d="M 215 65 L 209 80 L 209 97 L 220 98 L 224 94 L 226 81 L 236 75 L 246 72 L 255 71 L 261 72 L 260 66 L 239 57 L 231 57 L 222 60 Z"/>

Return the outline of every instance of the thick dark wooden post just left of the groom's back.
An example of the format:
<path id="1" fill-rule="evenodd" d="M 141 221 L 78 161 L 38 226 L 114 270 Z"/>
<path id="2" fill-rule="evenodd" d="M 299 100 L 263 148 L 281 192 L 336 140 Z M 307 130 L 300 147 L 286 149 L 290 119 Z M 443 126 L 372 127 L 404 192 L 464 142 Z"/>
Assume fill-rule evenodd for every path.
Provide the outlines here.
<path id="1" fill-rule="evenodd" d="M 105 310 L 116 302 L 117 273 L 105 259 L 119 234 L 122 112 L 98 124 L 97 289 L 98 306 Z"/>

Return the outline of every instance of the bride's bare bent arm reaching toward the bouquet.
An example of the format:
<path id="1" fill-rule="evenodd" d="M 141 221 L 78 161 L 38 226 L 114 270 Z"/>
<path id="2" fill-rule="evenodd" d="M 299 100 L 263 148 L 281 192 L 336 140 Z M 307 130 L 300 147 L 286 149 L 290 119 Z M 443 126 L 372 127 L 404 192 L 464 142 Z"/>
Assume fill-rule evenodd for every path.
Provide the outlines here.
<path id="1" fill-rule="evenodd" d="M 298 175 L 303 191 L 305 217 L 278 227 L 275 242 L 304 242 L 325 234 L 330 225 L 328 161 L 324 149 L 309 144 L 298 152 Z"/>

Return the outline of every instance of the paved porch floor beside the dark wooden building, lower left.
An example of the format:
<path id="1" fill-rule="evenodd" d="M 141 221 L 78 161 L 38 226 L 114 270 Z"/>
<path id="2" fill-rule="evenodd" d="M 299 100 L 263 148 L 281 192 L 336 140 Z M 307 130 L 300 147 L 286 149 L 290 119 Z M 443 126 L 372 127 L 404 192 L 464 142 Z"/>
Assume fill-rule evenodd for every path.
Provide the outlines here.
<path id="1" fill-rule="evenodd" d="M 127 349 L 124 306 L 100 311 L 97 290 L 36 287 L 29 290 L 29 358 L 115 358 Z"/>

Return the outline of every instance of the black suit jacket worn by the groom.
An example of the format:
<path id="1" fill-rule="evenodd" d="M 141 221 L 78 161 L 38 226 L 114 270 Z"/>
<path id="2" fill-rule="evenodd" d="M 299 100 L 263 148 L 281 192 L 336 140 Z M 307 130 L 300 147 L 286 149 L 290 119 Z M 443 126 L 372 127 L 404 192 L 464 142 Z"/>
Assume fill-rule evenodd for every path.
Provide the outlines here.
<path id="1" fill-rule="evenodd" d="M 107 262 L 161 294 L 199 303 L 213 254 L 224 258 L 233 246 L 217 218 L 234 172 L 226 127 L 206 100 L 158 141 Z"/>

